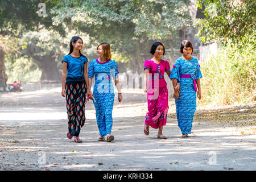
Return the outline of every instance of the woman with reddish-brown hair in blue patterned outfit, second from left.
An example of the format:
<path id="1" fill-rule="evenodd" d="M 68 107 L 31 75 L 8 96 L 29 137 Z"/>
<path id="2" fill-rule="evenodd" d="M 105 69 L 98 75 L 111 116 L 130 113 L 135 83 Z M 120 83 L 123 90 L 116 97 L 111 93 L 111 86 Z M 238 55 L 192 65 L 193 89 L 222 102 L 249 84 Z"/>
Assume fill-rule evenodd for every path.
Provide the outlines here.
<path id="1" fill-rule="evenodd" d="M 95 84 L 93 87 L 93 102 L 96 109 L 96 118 L 100 137 L 98 141 L 111 142 L 114 136 L 111 135 L 113 118 L 112 110 L 114 105 L 114 87 L 112 77 L 115 81 L 115 86 L 118 90 L 118 101 L 122 101 L 121 86 L 118 80 L 117 63 L 111 60 L 111 50 L 108 43 L 101 43 L 97 47 L 98 59 L 93 59 L 90 62 L 88 69 L 89 87 L 92 86 L 92 78 L 95 76 Z"/>

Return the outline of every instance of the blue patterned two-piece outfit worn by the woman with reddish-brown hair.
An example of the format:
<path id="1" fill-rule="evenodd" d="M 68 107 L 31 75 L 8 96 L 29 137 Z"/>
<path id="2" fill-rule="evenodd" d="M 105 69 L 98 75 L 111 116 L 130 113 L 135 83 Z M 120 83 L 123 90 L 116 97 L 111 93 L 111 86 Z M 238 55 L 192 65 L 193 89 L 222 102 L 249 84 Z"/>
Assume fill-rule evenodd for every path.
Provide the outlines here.
<path id="1" fill-rule="evenodd" d="M 100 135 L 105 137 L 111 134 L 113 118 L 112 110 L 114 105 L 114 86 L 112 78 L 118 78 L 117 63 L 108 60 L 100 63 L 97 59 L 90 62 L 88 77 L 95 77 L 93 86 L 93 104 L 96 109 L 96 118 Z"/>

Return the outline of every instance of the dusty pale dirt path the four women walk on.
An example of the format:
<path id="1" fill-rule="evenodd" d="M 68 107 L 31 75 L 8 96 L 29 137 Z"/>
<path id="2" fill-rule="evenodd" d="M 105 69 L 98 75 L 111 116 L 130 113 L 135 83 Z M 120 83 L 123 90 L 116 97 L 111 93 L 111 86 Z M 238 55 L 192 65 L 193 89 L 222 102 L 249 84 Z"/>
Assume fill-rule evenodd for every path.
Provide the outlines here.
<path id="1" fill-rule="evenodd" d="M 80 138 L 67 139 L 67 113 L 60 88 L 0 93 L 0 170 L 255 170 L 256 104 L 199 107 L 193 133 L 181 138 L 174 101 L 170 101 L 168 139 L 157 130 L 143 134 L 146 95 L 123 92 L 115 98 L 115 140 L 98 142 L 92 102 Z"/>

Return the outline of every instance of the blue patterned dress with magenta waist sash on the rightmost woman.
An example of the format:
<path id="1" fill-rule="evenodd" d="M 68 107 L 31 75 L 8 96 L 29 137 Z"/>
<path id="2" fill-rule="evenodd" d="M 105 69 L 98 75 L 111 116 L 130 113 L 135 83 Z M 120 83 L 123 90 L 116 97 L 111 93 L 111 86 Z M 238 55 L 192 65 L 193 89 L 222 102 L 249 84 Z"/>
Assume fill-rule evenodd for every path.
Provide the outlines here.
<path id="1" fill-rule="evenodd" d="M 181 78 L 180 75 L 191 75 L 191 78 Z M 202 78 L 200 65 L 195 57 L 185 60 L 179 57 L 172 68 L 170 78 L 176 78 L 180 83 L 179 98 L 175 100 L 178 126 L 182 134 L 190 134 L 193 116 L 196 111 L 196 91 L 193 83 Z"/>

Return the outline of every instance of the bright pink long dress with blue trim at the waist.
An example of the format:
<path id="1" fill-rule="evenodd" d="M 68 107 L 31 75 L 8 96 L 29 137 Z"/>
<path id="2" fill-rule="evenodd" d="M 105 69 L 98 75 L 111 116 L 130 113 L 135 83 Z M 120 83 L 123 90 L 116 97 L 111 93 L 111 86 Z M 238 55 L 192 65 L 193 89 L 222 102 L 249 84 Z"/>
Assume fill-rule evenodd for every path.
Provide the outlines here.
<path id="1" fill-rule="evenodd" d="M 166 125 L 168 113 L 168 90 L 164 80 L 164 72 L 170 71 L 167 60 L 161 60 L 159 64 L 153 60 L 146 60 L 144 69 L 149 69 L 150 76 L 147 85 L 147 107 L 148 113 L 145 117 L 145 125 L 154 129 Z"/>

